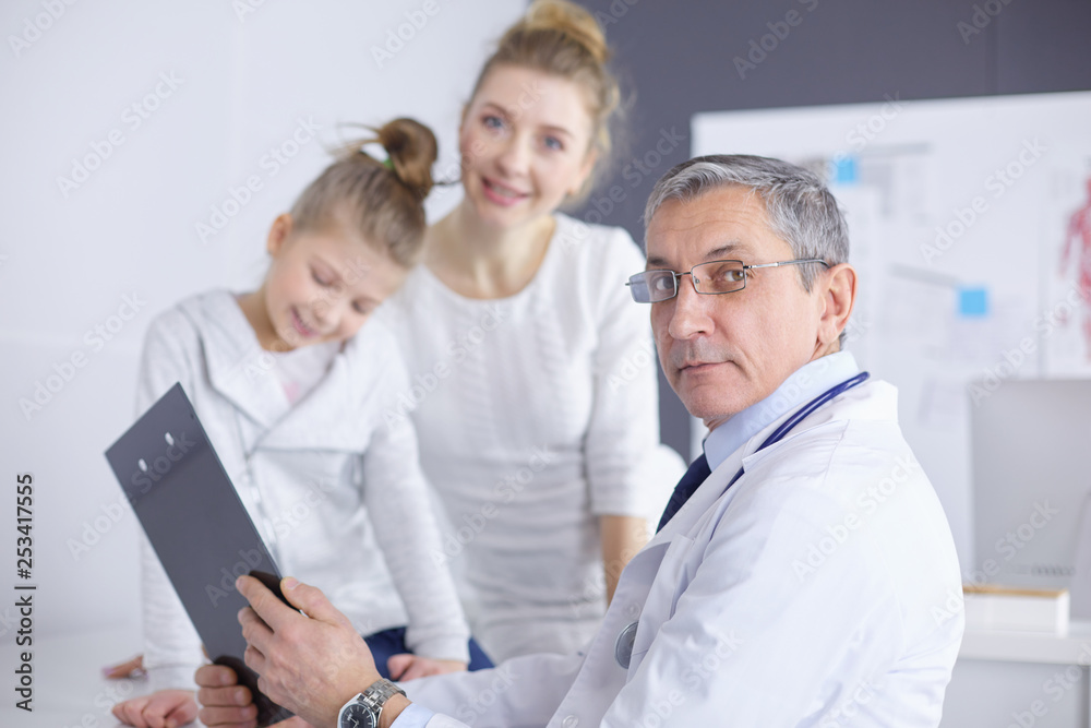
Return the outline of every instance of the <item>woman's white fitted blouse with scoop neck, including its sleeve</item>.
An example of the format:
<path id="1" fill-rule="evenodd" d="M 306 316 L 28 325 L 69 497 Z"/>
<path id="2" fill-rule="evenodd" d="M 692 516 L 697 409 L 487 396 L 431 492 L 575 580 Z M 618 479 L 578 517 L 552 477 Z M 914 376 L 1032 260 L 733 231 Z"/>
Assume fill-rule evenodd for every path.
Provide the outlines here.
<path id="1" fill-rule="evenodd" d="M 493 659 L 583 646 L 606 609 L 598 516 L 658 520 L 685 469 L 625 287 L 643 270 L 623 229 L 556 215 L 518 294 L 469 299 L 419 266 L 380 313 L 411 380 L 389 417 L 416 425 L 449 521 L 439 558 Z"/>

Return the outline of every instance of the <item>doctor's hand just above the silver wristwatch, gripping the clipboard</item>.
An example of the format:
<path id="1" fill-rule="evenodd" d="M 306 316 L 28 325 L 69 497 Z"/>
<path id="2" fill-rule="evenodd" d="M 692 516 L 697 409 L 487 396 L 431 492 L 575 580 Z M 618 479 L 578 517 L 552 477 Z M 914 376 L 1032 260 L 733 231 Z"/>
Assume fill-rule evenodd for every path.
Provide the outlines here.
<path id="1" fill-rule="evenodd" d="M 379 680 L 368 644 L 321 589 L 291 577 L 280 582 L 285 598 L 301 614 L 252 576 L 240 576 L 236 587 L 250 601 L 239 612 L 243 658 L 273 702 L 314 726 L 333 727 L 341 706 Z M 392 713 L 393 719 L 400 709 Z"/>

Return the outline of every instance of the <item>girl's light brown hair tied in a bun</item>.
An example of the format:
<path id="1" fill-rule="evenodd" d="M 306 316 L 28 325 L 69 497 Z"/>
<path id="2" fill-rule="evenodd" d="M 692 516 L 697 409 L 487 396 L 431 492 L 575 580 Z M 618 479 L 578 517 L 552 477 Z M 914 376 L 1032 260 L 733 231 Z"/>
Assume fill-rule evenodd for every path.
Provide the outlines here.
<path id="1" fill-rule="evenodd" d="M 359 232 L 403 267 L 410 267 L 424 241 L 424 198 L 432 189 L 435 134 L 413 119 L 395 119 L 372 139 L 346 144 L 337 160 L 311 182 L 291 207 L 297 231 L 333 226 Z M 361 147 L 377 142 L 387 160 Z"/>

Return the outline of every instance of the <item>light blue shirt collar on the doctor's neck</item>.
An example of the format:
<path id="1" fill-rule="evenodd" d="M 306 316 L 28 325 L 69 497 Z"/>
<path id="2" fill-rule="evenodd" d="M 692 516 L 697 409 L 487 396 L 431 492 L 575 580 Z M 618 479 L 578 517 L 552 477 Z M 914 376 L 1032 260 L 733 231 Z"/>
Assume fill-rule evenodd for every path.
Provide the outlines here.
<path id="1" fill-rule="evenodd" d="M 776 420 L 859 373 L 860 367 L 849 351 L 828 354 L 803 365 L 776 392 L 734 415 L 705 438 L 709 469 L 715 470 Z"/>

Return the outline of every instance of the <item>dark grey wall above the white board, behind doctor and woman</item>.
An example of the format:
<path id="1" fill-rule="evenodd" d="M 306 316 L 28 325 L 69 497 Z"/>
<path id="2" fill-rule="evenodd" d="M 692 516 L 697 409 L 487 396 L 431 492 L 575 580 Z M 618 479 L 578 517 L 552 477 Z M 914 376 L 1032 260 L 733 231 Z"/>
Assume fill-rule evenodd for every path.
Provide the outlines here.
<path id="1" fill-rule="evenodd" d="M 576 214 L 601 216 L 637 240 L 655 180 L 690 156 L 697 111 L 1091 89 L 1091 0 L 582 4 L 606 24 L 615 67 L 635 96 L 627 154 Z M 755 52 L 755 68 L 741 74 L 733 59 L 745 59 L 770 23 L 783 38 L 765 58 Z M 670 148 L 672 133 L 685 139 Z M 613 200 L 612 186 L 620 187 Z M 686 454 L 685 409 L 661 382 L 663 439 Z"/>

